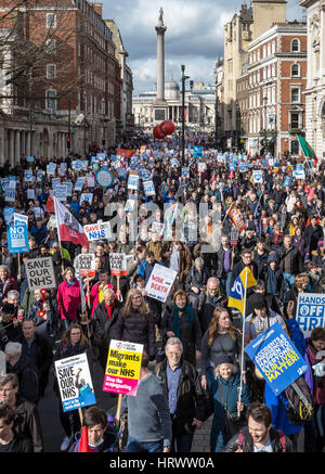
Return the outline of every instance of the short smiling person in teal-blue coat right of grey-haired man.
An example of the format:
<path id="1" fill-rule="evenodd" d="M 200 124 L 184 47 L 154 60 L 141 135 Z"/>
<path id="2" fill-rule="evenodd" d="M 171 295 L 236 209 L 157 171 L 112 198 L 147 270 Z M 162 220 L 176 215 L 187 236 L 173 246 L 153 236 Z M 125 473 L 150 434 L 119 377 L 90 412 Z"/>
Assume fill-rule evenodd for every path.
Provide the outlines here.
<path id="1" fill-rule="evenodd" d="M 250 405 L 250 392 L 243 384 L 242 398 L 238 401 L 238 388 L 240 385 L 240 372 L 234 366 L 234 361 L 227 355 L 220 355 L 216 360 L 214 380 L 208 381 L 208 386 L 213 398 L 213 420 L 210 434 L 210 452 L 220 452 L 226 445 L 233 433 L 226 430 L 226 414 L 223 407 L 235 418 L 237 411 L 240 417 L 232 421 L 233 432 L 237 432 L 238 424 L 244 418 L 244 412 Z"/>

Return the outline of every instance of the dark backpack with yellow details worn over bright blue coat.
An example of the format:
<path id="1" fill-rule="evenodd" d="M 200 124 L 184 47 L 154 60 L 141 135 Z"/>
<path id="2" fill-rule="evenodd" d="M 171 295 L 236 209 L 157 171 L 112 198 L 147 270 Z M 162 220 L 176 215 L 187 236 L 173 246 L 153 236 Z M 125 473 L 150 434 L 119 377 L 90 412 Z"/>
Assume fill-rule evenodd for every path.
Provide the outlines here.
<path id="1" fill-rule="evenodd" d="M 285 389 L 288 405 L 287 417 L 291 424 L 310 421 L 314 413 L 314 400 L 306 380 L 300 376 Z"/>

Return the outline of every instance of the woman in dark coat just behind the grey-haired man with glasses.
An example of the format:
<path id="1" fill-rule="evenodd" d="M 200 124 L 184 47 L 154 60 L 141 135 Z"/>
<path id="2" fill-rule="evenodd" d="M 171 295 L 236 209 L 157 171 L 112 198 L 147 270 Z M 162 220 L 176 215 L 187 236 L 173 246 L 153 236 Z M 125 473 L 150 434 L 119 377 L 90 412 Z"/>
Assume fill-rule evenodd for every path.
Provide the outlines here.
<path id="1" fill-rule="evenodd" d="M 184 290 L 178 290 L 172 305 L 166 306 L 161 333 L 165 347 L 168 337 L 179 337 L 183 344 L 183 359 L 193 366 L 200 358 L 202 330 L 196 311 Z"/>

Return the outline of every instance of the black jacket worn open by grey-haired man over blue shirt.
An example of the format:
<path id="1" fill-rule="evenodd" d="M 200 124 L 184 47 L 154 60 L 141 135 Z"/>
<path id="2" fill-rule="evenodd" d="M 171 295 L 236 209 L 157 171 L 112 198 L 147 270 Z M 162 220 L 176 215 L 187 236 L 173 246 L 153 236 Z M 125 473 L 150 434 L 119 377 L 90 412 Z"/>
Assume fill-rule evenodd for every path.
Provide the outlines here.
<path id="1" fill-rule="evenodd" d="M 157 371 L 157 376 L 161 379 L 168 392 L 167 363 L 165 359 Z M 196 369 L 183 359 L 180 363 L 182 372 L 178 384 L 178 405 L 173 420 L 174 434 L 178 436 L 194 433 L 193 419 L 205 421 L 208 414 L 207 399 Z"/>

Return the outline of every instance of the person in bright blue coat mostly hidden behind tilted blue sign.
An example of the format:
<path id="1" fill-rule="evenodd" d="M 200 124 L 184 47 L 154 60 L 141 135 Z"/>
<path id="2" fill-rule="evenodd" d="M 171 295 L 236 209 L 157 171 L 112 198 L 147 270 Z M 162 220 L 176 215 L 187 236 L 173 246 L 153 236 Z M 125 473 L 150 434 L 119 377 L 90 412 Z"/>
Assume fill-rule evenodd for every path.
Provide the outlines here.
<path id="1" fill-rule="evenodd" d="M 290 338 L 303 358 L 306 353 L 306 341 L 303 333 L 294 317 L 294 302 L 289 302 L 287 306 L 287 313 L 288 319 L 286 320 L 286 323 Z M 288 399 L 285 392 L 276 396 L 270 388 L 269 384 L 265 384 L 264 401 L 272 412 L 272 426 L 281 430 L 285 435 L 287 435 L 294 443 L 294 447 L 297 450 L 297 438 L 303 427 L 303 423 L 299 425 L 290 423 L 286 411 Z"/>

